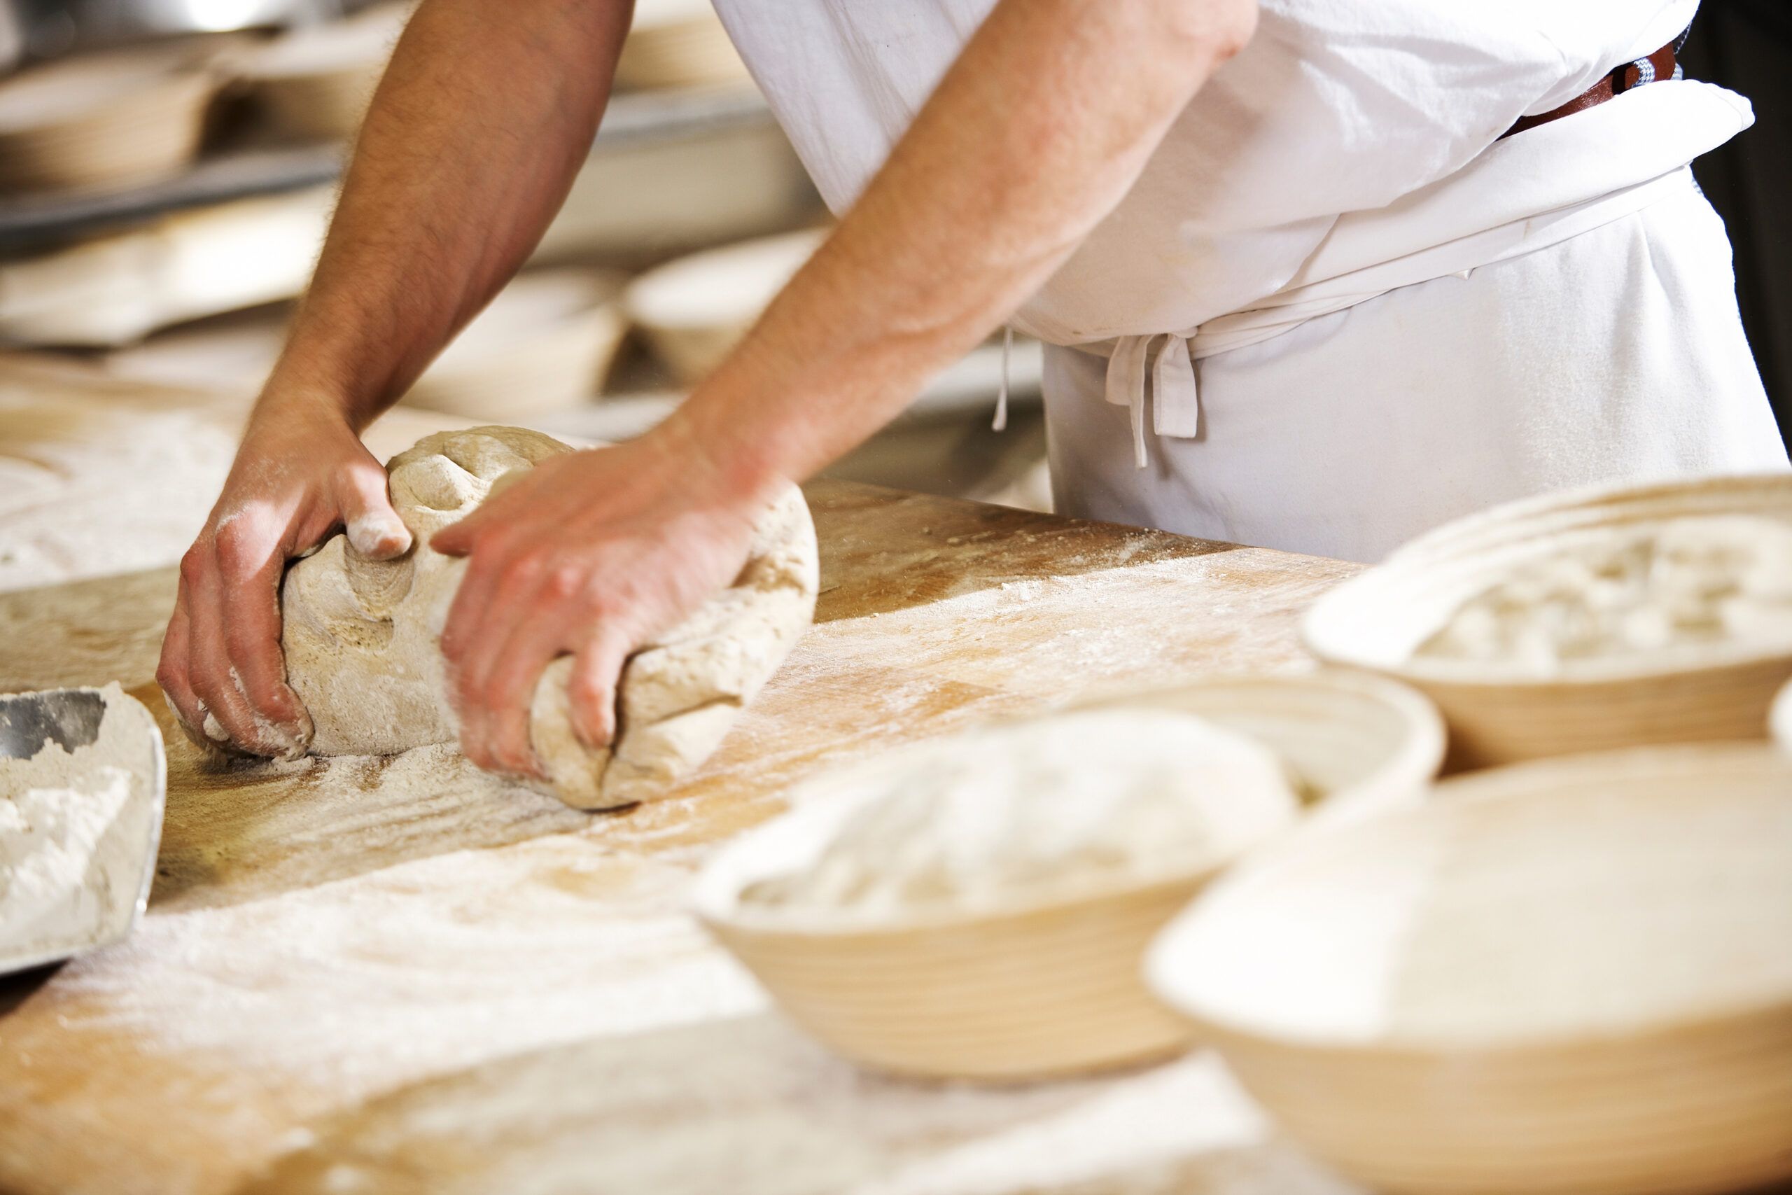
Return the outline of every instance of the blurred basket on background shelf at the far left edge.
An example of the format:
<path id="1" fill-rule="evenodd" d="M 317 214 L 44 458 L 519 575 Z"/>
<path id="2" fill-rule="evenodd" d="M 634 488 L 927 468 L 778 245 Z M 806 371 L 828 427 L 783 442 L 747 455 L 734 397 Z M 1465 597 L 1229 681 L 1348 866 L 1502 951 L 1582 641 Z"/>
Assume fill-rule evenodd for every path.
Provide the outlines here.
<path id="1" fill-rule="evenodd" d="M 201 43 L 86 54 L 0 82 L 0 192 L 129 186 L 199 156 L 222 77 Z"/>

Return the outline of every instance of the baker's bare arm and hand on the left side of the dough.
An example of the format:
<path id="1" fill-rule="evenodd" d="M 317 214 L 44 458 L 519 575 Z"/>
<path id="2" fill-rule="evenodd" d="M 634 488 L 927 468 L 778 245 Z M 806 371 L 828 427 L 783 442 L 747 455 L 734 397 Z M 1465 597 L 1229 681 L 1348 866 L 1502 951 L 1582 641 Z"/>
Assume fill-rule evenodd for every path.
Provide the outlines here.
<path id="1" fill-rule="evenodd" d="M 425 0 L 367 113 L 280 364 L 206 529 L 181 561 L 158 679 L 183 720 L 294 754 L 280 575 L 346 525 L 369 555 L 410 534 L 358 432 L 504 285 L 584 161 L 633 0 Z"/>

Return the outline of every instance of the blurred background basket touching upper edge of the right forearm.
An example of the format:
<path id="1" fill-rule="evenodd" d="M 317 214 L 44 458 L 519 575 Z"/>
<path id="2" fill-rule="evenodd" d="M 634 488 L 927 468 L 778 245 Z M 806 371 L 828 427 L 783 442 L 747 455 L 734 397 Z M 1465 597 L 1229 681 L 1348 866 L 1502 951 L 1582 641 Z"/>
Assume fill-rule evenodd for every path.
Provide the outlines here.
<path id="1" fill-rule="evenodd" d="M 701 382 L 824 236 L 823 229 L 781 233 L 668 262 L 629 283 L 629 319 L 681 382 Z"/>

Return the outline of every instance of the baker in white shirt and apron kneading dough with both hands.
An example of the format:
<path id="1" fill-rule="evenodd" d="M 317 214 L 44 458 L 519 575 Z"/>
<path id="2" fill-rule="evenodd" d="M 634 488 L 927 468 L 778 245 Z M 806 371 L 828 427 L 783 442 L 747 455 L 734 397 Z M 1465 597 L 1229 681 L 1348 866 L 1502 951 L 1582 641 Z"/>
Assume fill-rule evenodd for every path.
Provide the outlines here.
<path id="1" fill-rule="evenodd" d="M 289 557 L 470 557 L 441 629 L 468 756 L 541 776 L 624 661 L 740 575 L 788 482 L 1002 324 L 1047 349 L 1061 512 L 1351 559 L 1582 482 L 1787 468 L 1688 163 L 1695 0 L 717 0 L 840 220 L 625 446 L 409 527 L 358 430 L 521 263 L 584 159 L 627 0 L 421 0 L 292 339 L 183 561 L 159 677 L 260 754 L 312 727 Z M 1098 616 L 1093 615 L 1091 616 Z"/>

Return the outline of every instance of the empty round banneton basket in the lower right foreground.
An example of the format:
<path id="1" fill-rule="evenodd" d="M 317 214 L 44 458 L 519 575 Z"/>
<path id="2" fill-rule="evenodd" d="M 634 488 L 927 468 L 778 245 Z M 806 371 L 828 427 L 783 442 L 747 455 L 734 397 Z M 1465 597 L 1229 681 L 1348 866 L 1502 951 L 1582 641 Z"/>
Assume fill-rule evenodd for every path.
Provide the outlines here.
<path id="1" fill-rule="evenodd" d="M 1414 1195 L 1792 1179 L 1792 761 L 1546 760 L 1253 856 L 1156 991 L 1315 1156 Z"/>

